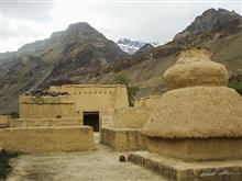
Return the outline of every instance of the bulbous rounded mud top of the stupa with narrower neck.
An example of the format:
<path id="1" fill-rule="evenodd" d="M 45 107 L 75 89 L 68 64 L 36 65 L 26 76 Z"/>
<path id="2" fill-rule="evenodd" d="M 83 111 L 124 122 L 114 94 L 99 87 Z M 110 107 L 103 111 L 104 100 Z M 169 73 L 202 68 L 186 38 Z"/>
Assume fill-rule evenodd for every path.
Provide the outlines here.
<path id="1" fill-rule="evenodd" d="M 210 56 L 211 52 L 205 48 L 189 48 L 180 52 L 177 63 L 164 73 L 168 89 L 227 86 L 229 77 L 226 67 L 211 61 Z"/>

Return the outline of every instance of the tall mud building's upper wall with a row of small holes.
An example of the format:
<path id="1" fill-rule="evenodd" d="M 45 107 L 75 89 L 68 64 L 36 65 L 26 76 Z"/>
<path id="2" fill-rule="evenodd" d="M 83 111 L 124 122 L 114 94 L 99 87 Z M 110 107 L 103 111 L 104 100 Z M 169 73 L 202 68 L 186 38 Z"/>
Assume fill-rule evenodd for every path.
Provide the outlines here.
<path id="1" fill-rule="evenodd" d="M 53 91 L 66 91 L 76 102 L 77 111 L 105 111 L 108 109 L 128 108 L 128 93 L 124 86 L 66 84 L 51 87 Z"/>

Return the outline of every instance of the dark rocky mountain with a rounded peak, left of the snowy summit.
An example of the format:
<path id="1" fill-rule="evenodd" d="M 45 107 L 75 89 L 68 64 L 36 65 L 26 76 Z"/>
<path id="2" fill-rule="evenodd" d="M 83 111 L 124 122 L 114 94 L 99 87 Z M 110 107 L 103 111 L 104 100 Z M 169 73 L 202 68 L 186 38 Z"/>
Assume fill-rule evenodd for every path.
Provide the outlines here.
<path id="1" fill-rule="evenodd" d="M 2 54 L 0 113 L 16 111 L 21 93 L 53 82 L 76 82 L 77 75 L 95 72 L 125 56 L 114 42 L 87 23 L 72 24 L 47 39 L 26 44 L 16 53 Z"/>

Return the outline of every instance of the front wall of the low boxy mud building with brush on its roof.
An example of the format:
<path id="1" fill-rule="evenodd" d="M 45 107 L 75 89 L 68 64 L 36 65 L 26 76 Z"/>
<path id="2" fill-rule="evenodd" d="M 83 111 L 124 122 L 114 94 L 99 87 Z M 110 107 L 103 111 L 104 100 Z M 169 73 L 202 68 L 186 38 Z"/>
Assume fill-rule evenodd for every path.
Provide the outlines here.
<path id="1" fill-rule="evenodd" d="M 69 118 L 76 117 L 76 104 L 65 97 L 20 97 L 20 118 Z"/>

